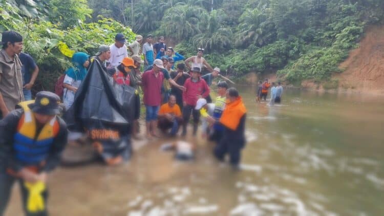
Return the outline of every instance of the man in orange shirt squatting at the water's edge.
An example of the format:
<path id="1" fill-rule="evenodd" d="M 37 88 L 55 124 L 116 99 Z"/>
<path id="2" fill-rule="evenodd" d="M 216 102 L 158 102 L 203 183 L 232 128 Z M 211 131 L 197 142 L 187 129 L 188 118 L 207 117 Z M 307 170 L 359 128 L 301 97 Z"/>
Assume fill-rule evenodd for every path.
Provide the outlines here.
<path id="1" fill-rule="evenodd" d="M 176 104 L 176 97 L 170 95 L 168 102 L 160 107 L 157 126 L 163 134 L 173 137 L 179 131 L 182 121 L 180 107 Z"/>

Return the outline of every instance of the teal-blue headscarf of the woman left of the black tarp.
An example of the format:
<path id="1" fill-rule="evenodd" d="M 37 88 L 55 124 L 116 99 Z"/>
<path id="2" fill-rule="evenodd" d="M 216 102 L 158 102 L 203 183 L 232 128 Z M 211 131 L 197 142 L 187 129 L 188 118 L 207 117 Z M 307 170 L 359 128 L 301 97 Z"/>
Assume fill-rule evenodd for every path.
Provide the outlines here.
<path id="1" fill-rule="evenodd" d="M 87 53 L 78 52 L 73 54 L 72 63 L 73 68 L 67 70 L 66 74 L 74 80 L 83 80 L 87 75 L 87 68 L 83 64 L 89 58 Z"/>

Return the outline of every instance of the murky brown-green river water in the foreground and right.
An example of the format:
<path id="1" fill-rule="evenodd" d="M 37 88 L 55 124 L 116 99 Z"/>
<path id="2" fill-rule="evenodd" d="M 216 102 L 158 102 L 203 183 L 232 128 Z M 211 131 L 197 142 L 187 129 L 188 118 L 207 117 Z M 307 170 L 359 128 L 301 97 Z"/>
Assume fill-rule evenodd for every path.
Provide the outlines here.
<path id="1" fill-rule="evenodd" d="M 50 176 L 51 215 L 382 215 L 384 98 L 286 91 L 282 105 L 246 103 L 248 143 L 240 171 L 197 143 L 177 162 L 136 143 L 119 167 L 59 167 Z M 21 215 L 18 188 L 7 215 Z"/>

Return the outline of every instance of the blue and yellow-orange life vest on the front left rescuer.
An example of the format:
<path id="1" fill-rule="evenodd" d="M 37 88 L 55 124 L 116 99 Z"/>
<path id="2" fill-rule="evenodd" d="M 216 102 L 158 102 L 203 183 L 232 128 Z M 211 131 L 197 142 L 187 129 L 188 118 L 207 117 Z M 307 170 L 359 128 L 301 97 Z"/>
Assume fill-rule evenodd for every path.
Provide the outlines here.
<path id="1" fill-rule="evenodd" d="M 55 117 L 44 125 L 37 135 L 35 117 L 31 111 L 25 109 L 18 122 L 17 133 L 13 137 L 15 158 L 25 165 L 35 165 L 44 161 L 58 131 L 59 124 Z"/>

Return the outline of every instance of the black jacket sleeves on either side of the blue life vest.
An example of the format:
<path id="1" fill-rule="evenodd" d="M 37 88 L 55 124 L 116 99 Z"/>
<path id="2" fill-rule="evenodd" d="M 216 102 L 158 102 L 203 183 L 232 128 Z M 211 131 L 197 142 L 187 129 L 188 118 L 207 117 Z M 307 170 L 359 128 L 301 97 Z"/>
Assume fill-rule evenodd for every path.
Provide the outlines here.
<path id="1" fill-rule="evenodd" d="M 13 171 L 18 172 L 23 168 L 23 164 L 15 159 L 13 149 L 13 136 L 16 133 L 17 124 L 23 114 L 23 109 L 17 109 L 0 120 L 0 171 L 11 168 Z M 59 164 L 60 155 L 67 144 L 67 125 L 60 117 L 57 117 L 57 121 L 59 123 L 59 132 L 53 139 L 49 156 L 40 171 L 49 172 L 53 170 Z"/>

